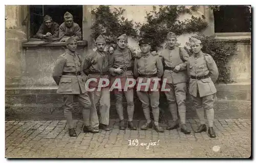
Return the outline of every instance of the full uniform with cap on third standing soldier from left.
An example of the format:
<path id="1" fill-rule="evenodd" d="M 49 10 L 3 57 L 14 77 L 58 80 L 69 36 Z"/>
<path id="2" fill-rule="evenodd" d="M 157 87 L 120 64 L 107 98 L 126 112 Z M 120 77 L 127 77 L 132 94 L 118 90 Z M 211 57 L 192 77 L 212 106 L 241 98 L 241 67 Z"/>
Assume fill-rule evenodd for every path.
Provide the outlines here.
<path id="1" fill-rule="evenodd" d="M 118 39 L 122 39 L 127 41 L 127 36 L 126 34 L 123 34 L 118 37 Z M 128 87 L 127 91 L 123 91 L 125 82 L 127 78 L 132 78 L 133 77 L 133 65 L 134 65 L 134 59 L 136 57 L 136 53 L 132 49 L 124 48 L 121 49 L 119 46 L 117 46 L 117 49 L 114 51 L 112 55 L 110 55 L 109 59 L 109 72 L 110 72 L 110 85 L 112 86 L 114 81 L 116 79 L 119 79 L 121 81 L 121 88 L 122 91 L 119 91 L 118 89 L 114 89 L 114 95 L 116 98 L 116 109 L 117 113 L 119 115 L 120 119 L 120 129 L 125 129 L 124 122 L 123 122 L 123 104 L 122 104 L 122 99 L 123 95 L 125 95 L 126 102 L 127 102 L 127 114 L 128 114 L 128 122 L 129 122 L 129 128 L 135 129 L 136 127 L 133 126 L 133 113 L 134 113 L 134 87 Z M 114 72 L 114 70 L 118 67 L 122 67 L 123 73 L 122 74 L 117 74 Z"/>

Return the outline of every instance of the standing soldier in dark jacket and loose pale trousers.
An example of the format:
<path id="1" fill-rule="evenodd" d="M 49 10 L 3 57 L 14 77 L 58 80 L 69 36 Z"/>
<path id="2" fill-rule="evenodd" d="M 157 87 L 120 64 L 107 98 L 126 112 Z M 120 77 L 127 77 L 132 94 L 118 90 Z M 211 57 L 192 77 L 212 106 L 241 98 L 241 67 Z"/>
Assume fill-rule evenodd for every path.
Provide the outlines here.
<path id="1" fill-rule="evenodd" d="M 99 86 L 99 79 L 109 79 L 109 57 L 104 52 L 106 42 L 105 39 L 99 35 L 96 39 L 97 50 L 88 55 L 83 64 L 83 72 L 88 75 L 88 79 L 97 79 L 96 82 L 91 81 L 89 88 L 95 88 L 94 91 L 88 91 L 88 95 L 92 102 L 91 107 L 91 126 L 93 132 L 99 132 L 99 129 L 109 131 L 109 117 L 110 117 L 110 87 L 102 87 L 101 90 L 97 90 Z M 100 110 L 100 124 L 96 109 L 96 104 L 99 102 Z"/>

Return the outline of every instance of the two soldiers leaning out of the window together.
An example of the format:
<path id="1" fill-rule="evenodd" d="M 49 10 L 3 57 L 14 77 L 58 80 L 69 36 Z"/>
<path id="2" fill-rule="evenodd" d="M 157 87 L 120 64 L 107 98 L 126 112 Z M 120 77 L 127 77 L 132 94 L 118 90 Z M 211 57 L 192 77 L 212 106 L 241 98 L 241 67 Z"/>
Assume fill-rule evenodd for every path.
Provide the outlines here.
<path id="1" fill-rule="evenodd" d="M 59 38 L 60 42 L 65 42 L 71 36 L 76 40 L 82 40 L 81 28 L 73 21 L 73 15 L 69 12 L 64 14 L 64 22 L 60 26 L 52 20 L 51 16 L 46 15 L 44 24 L 36 33 L 39 39 Z"/>

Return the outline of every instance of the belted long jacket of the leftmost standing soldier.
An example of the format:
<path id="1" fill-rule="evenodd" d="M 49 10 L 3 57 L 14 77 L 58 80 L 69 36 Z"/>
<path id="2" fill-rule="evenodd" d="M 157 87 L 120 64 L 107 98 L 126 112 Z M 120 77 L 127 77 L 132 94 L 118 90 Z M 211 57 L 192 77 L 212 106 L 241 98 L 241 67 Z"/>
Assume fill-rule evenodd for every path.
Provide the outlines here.
<path id="1" fill-rule="evenodd" d="M 61 54 L 53 69 L 53 79 L 59 86 L 57 94 L 82 94 L 86 92 L 87 76 L 82 72 L 81 56 L 66 50 Z M 62 75 L 63 72 L 81 72 L 80 76 Z"/>

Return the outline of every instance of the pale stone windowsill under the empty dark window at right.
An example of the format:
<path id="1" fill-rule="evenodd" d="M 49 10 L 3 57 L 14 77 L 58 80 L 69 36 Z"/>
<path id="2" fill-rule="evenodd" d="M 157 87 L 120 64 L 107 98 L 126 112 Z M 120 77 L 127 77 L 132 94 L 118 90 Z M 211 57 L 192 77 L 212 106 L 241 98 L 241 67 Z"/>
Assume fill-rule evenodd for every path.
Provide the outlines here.
<path id="1" fill-rule="evenodd" d="M 215 39 L 220 42 L 250 42 L 251 32 L 215 33 Z"/>

